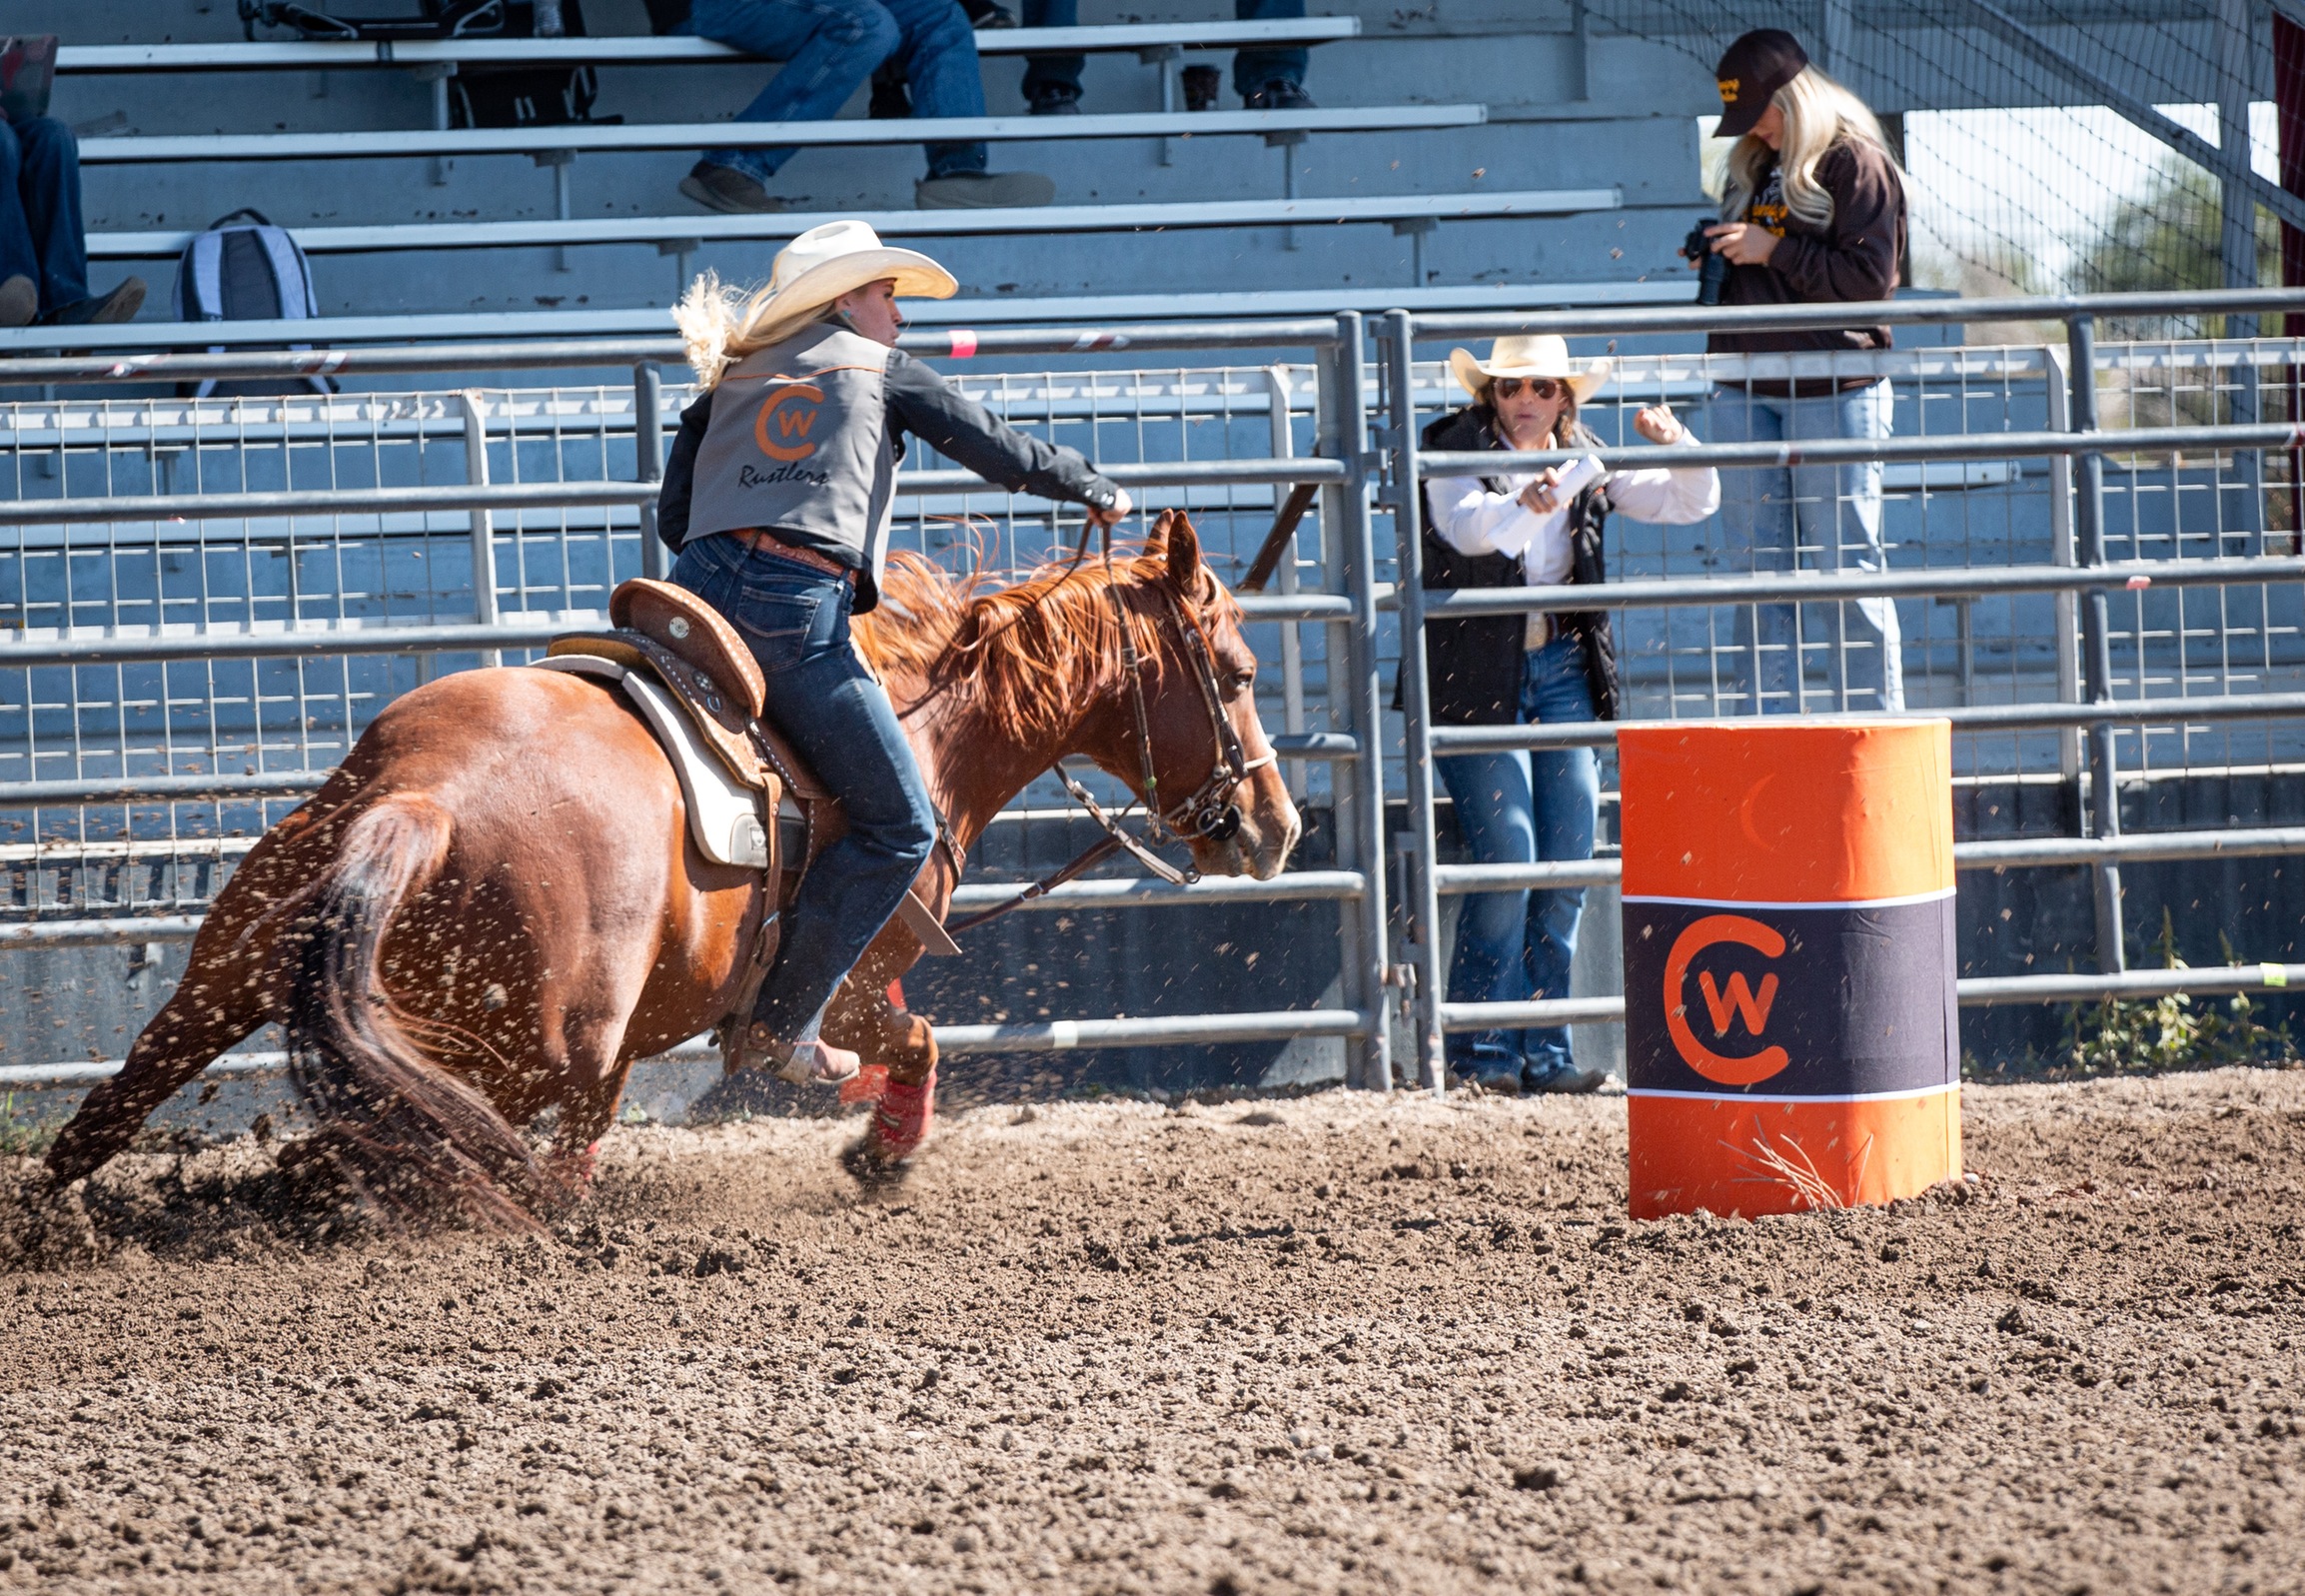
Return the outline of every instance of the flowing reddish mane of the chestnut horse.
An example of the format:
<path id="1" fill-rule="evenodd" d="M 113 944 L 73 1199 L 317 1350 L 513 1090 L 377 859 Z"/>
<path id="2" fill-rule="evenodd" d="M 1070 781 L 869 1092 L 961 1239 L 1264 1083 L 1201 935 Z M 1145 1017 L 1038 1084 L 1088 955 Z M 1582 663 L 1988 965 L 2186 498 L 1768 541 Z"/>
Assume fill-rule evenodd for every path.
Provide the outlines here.
<path id="1" fill-rule="evenodd" d="M 857 646 L 890 680 L 899 708 L 954 694 L 1017 731 L 1058 731 L 1118 676 L 1120 616 L 1136 653 L 1155 673 L 1162 669 L 1159 607 L 1146 584 L 1166 581 L 1166 560 L 1162 547 L 1116 544 L 1111 567 L 1099 558 L 1060 560 L 1000 586 L 982 570 L 954 574 L 897 551 L 881 577 L 878 609 L 855 620 Z M 1206 570 L 1189 609 L 1240 616 Z"/>

